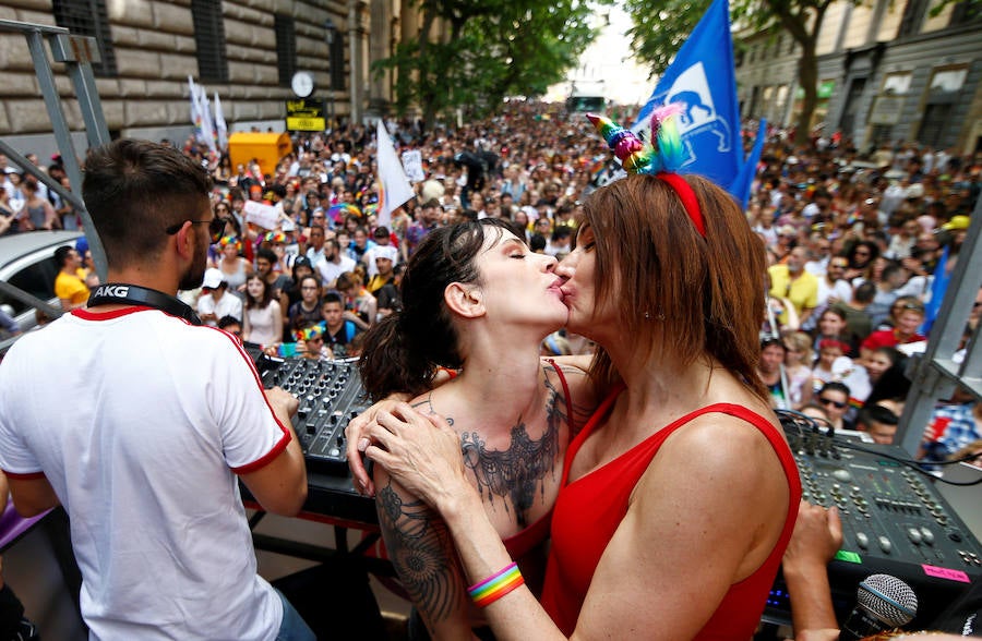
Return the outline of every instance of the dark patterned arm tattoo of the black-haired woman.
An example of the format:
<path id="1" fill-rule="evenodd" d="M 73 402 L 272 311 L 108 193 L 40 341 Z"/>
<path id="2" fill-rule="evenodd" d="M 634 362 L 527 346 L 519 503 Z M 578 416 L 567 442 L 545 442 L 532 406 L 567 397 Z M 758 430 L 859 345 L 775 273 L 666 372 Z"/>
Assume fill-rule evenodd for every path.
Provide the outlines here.
<path id="1" fill-rule="evenodd" d="M 375 507 L 388 558 L 409 597 L 430 620 L 446 620 L 464 603 L 446 524 L 421 500 L 404 503 L 392 483 L 379 491 Z"/>

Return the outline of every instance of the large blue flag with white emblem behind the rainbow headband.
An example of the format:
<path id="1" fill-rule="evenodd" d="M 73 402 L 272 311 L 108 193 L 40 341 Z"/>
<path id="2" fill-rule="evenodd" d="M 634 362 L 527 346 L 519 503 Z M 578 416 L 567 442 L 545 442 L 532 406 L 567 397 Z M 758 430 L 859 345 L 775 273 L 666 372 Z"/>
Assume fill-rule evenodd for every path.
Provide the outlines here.
<path id="1" fill-rule="evenodd" d="M 733 184 L 743 166 L 743 145 L 727 0 L 712 0 L 632 129 L 647 132 L 651 111 L 667 102 L 685 104 L 679 130 L 688 160 L 682 172 L 705 176 L 723 189 Z"/>

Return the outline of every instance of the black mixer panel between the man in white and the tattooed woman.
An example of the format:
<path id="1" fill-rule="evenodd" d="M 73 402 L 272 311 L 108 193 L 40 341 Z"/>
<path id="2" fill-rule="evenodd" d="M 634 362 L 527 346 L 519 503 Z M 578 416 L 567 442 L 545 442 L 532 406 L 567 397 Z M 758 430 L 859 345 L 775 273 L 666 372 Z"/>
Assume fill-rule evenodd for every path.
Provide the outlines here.
<path id="1" fill-rule="evenodd" d="M 256 366 L 265 387 L 278 385 L 300 399 L 294 430 L 308 469 L 347 475 L 345 426 L 371 404 L 355 363 L 267 359 Z"/>

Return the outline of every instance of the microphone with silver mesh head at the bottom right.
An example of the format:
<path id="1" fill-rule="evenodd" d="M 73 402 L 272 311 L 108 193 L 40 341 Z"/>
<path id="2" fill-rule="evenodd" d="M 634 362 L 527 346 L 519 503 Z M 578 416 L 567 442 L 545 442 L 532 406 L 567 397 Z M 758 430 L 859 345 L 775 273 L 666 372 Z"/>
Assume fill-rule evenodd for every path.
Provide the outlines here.
<path id="1" fill-rule="evenodd" d="M 909 624 L 918 614 L 918 595 L 889 575 L 872 575 L 855 591 L 857 605 L 842 625 L 840 641 L 857 641 Z"/>

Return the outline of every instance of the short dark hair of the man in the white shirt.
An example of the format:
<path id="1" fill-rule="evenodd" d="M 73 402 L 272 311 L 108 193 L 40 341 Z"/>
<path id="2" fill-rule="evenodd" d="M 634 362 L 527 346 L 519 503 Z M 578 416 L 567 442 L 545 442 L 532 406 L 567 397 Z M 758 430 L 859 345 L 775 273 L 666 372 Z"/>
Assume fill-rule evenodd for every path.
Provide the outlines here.
<path id="1" fill-rule="evenodd" d="M 82 198 L 113 267 L 152 261 L 167 243 L 165 230 L 199 220 L 212 180 L 180 150 L 121 138 L 85 160 Z"/>

